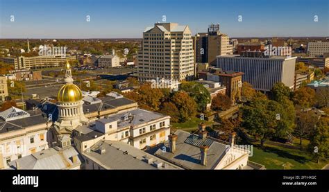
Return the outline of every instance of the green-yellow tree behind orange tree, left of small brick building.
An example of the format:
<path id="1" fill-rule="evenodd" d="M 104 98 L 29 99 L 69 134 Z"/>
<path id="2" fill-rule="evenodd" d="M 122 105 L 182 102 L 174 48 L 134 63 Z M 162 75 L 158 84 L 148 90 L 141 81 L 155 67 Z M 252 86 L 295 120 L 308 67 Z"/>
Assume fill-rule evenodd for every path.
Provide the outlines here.
<path id="1" fill-rule="evenodd" d="M 194 99 L 199 112 L 203 112 L 210 103 L 209 91 L 199 82 L 183 82 L 180 90 L 187 92 Z"/>

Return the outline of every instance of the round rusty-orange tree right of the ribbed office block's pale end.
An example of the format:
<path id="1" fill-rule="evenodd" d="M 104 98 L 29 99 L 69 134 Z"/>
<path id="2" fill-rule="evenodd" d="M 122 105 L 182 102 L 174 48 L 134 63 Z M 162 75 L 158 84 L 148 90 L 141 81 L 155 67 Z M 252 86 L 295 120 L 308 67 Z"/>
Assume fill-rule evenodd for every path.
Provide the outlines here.
<path id="1" fill-rule="evenodd" d="M 294 105 L 303 108 L 312 107 L 315 103 L 315 91 L 310 87 L 301 87 L 294 92 L 292 101 L 294 101 Z"/>

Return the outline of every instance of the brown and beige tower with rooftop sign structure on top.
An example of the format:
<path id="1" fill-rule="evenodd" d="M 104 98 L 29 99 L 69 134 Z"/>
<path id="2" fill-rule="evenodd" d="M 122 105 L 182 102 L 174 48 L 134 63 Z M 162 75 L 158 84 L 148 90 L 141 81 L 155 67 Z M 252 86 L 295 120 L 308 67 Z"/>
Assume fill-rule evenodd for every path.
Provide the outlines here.
<path id="1" fill-rule="evenodd" d="M 219 32 L 219 24 L 211 24 L 208 28 L 208 63 L 215 66 L 218 55 L 228 54 L 233 54 L 230 37 Z"/>

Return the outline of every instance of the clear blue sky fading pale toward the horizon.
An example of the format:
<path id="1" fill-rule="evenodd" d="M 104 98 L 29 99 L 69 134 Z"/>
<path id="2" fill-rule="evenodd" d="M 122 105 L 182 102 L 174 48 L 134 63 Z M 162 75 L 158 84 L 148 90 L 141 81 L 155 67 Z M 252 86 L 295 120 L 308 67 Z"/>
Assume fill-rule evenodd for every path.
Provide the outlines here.
<path id="1" fill-rule="evenodd" d="M 328 0 L 0 0 L 0 38 L 140 38 L 164 18 L 193 35 L 329 36 Z"/>

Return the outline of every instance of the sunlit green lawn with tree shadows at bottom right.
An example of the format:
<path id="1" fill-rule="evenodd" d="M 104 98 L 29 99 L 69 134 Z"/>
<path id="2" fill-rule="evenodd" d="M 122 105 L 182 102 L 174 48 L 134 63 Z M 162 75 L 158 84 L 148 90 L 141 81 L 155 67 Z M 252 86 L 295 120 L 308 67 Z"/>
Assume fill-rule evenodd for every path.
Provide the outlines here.
<path id="1" fill-rule="evenodd" d="M 303 148 L 308 141 L 303 141 Z M 294 145 L 299 146 L 299 139 L 294 140 Z M 320 163 L 312 161 L 310 153 L 305 150 L 290 149 L 282 146 L 273 146 L 267 143 L 261 149 L 258 143 L 253 143 L 252 162 L 263 164 L 267 169 L 321 169 L 329 164 L 329 159 L 321 159 Z"/>

